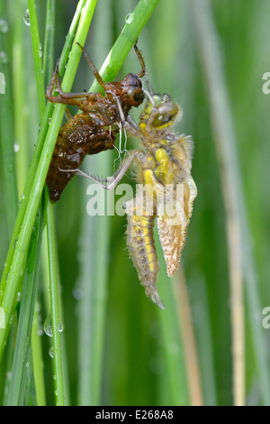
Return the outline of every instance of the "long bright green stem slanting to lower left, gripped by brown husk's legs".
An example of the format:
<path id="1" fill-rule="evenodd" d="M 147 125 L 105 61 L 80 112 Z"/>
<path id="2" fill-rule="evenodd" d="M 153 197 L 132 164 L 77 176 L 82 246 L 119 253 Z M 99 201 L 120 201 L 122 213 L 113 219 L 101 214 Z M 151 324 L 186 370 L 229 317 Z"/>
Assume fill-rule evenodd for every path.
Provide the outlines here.
<path id="1" fill-rule="evenodd" d="M 86 1 L 85 7 L 82 10 L 81 20 L 78 24 L 75 38 L 75 41 L 78 41 L 81 44 L 85 43 L 85 38 L 94 13 L 95 3 L 95 0 Z M 74 44 L 72 51 L 70 51 L 65 78 L 63 78 L 63 89 L 66 91 L 70 90 L 72 86 L 80 54 L 81 49 L 76 44 Z M 31 187 L 29 201 L 23 217 L 22 229 L 18 237 L 17 246 L 14 252 L 14 258 L 11 265 L 12 272 L 8 274 L 8 281 L 4 290 L 2 307 L 4 308 L 4 313 L 7 322 L 9 322 L 14 310 L 16 290 L 18 287 L 20 275 L 23 272 L 25 264 L 25 259 L 31 238 L 31 228 L 33 226 L 34 219 L 39 206 L 41 192 L 46 180 L 46 175 L 49 169 L 49 162 L 52 156 L 54 145 L 58 137 L 58 131 L 63 119 L 64 111 L 65 105 L 56 105 L 54 108 L 54 113 L 52 115 L 51 122 L 49 125 L 49 131 L 40 155 L 40 161 Z M 7 333 L 7 328 L 2 329 L 0 332 L 0 357 L 3 355 Z"/>

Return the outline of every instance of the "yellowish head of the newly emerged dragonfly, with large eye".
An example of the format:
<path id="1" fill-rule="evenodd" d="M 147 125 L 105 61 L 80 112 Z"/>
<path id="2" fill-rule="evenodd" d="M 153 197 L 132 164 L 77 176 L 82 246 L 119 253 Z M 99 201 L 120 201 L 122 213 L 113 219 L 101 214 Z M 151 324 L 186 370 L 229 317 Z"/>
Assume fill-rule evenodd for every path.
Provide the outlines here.
<path id="1" fill-rule="evenodd" d="M 166 94 L 151 96 L 146 90 L 144 92 L 149 100 L 139 115 L 140 127 L 150 124 L 153 128 L 161 130 L 182 116 L 181 107 Z"/>

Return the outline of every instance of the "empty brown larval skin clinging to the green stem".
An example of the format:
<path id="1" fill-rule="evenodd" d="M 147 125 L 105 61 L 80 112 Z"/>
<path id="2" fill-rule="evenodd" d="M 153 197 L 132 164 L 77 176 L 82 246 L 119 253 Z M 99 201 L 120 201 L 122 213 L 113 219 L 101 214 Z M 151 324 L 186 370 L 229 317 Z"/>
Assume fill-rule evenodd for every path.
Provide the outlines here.
<path id="1" fill-rule="evenodd" d="M 73 117 L 67 113 L 69 119 L 60 128 L 46 179 L 52 202 L 58 201 L 67 183 L 74 176 L 73 171 L 80 166 L 86 154 L 113 149 L 116 134 L 119 132 L 119 124 L 121 124 L 118 103 L 121 105 L 124 119 L 126 119 L 130 108 L 138 107 L 144 100 L 141 78 L 145 75 L 145 64 L 136 43 L 134 49 L 139 58 L 141 70 L 138 74 L 128 74 L 120 82 L 109 83 L 103 81 L 83 47 L 78 45 L 82 49 L 94 77 L 103 87 L 104 96 L 101 93 L 66 93 L 62 91 L 57 63 L 47 88 L 47 97 L 53 103 L 78 106 L 82 113 Z M 52 94 L 55 84 L 58 96 Z M 118 99 L 118 103 L 116 99 Z"/>

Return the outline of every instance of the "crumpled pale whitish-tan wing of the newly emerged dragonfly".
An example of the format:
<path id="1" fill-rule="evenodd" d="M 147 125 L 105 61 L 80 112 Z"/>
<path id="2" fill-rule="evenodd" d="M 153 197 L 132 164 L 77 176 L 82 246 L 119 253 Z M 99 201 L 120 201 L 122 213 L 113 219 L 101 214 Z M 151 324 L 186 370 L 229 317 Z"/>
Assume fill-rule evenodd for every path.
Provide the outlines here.
<path id="1" fill-rule="evenodd" d="M 179 194 L 176 196 L 177 191 L 174 190 L 173 206 L 176 214 L 174 217 L 168 216 L 166 210 L 164 214 L 159 215 L 157 207 L 158 235 L 169 277 L 178 270 L 187 227 L 193 212 L 193 200 L 197 196 L 196 185 L 192 177 L 187 178 L 182 184 L 181 196 Z"/>

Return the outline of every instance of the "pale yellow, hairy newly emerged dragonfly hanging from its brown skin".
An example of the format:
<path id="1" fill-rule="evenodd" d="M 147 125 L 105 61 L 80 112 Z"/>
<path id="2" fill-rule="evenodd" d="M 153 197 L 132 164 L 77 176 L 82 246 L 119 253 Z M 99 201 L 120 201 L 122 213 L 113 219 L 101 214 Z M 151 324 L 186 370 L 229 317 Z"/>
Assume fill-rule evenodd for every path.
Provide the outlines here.
<path id="1" fill-rule="evenodd" d="M 122 124 L 130 134 L 139 138 L 140 148 L 130 152 L 118 171 L 105 182 L 83 171 L 76 172 L 104 189 L 114 189 L 130 165 L 134 165 L 137 192 L 125 204 L 127 244 L 147 296 L 159 308 L 165 309 L 157 293 L 154 221 L 157 217 L 167 275 L 172 276 L 178 269 L 197 189 L 191 176 L 193 143 L 190 137 L 179 136 L 170 129 L 175 118 L 181 115 L 180 106 L 167 95 L 152 96 L 148 93 L 148 98 L 139 115 L 139 125 L 133 123 L 130 116 L 125 120 L 121 111 Z M 117 102 L 121 109 L 120 102 Z M 149 204 L 152 207 L 149 208 Z"/>

